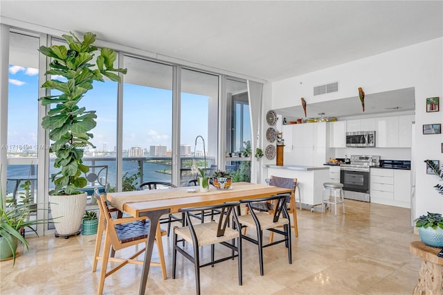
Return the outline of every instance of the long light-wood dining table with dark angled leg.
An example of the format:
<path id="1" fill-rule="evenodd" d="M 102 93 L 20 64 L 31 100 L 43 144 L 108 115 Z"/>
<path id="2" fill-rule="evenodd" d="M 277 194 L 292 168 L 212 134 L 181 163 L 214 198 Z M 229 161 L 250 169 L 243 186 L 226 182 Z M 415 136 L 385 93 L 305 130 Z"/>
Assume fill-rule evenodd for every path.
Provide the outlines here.
<path id="1" fill-rule="evenodd" d="M 107 193 L 107 199 L 111 202 L 111 206 L 118 208 L 120 211 L 125 211 L 133 217 L 148 217 L 151 222 L 138 294 L 145 294 L 155 232 L 161 215 L 177 213 L 181 208 L 223 204 L 242 199 L 270 197 L 282 193 L 291 193 L 291 189 L 247 182 L 233 183 L 229 189 L 225 190 L 210 188 L 207 193 L 200 193 L 197 186 Z"/>

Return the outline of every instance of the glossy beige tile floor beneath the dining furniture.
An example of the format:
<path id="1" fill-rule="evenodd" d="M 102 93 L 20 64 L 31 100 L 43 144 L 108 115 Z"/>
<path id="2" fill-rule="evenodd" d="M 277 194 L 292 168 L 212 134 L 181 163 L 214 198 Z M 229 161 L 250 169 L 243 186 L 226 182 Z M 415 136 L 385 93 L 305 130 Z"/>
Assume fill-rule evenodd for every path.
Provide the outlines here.
<path id="1" fill-rule="evenodd" d="M 409 251 L 410 242 L 419 240 L 409 209 L 346 200 L 345 215 L 298 210 L 298 226 L 292 265 L 284 244 L 266 248 L 261 277 L 257 249 L 245 241 L 243 285 L 237 282 L 237 260 L 227 260 L 201 269 L 201 293 L 412 294 L 421 260 Z M 95 239 L 30 238 L 30 252 L 20 249 L 14 267 L 12 260 L 0 263 L 0 294 L 96 294 L 100 265 L 91 272 Z M 173 280 L 172 236 L 164 237 L 163 245 L 168 279 L 152 267 L 146 293 L 195 294 L 192 265 L 179 255 Z M 140 273 L 141 266 L 125 266 L 105 280 L 105 294 L 138 294 Z"/>

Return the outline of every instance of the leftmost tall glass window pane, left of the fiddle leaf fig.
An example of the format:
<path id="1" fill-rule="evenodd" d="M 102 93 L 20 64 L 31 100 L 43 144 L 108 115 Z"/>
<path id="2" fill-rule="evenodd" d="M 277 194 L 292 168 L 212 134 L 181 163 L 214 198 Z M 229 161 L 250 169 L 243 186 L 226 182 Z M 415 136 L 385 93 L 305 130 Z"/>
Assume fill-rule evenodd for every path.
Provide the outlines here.
<path id="1" fill-rule="evenodd" d="M 43 202 L 37 196 L 37 130 L 39 97 L 39 37 L 10 32 L 8 69 L 8 138 L 6 204 Z"/>

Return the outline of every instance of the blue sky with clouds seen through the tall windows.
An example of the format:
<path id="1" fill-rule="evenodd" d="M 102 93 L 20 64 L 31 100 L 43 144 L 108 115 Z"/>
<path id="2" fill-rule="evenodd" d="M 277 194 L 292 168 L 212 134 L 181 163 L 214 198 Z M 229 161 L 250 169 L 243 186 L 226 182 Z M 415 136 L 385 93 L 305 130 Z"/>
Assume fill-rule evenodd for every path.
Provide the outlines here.
<path id="1" fill-rule="evenodd" d="M 38 70 L 9 67 L 8 145 L 36 147 L 38 107 Z M 135 84 L 123 87 L 123 149 L 172 144 L 172 91 Z M 194 149 L 195 137 L 208 134 L 208 98 L 181 94 L 182 144 Z M 113 151 L 116 146 L 117 83 L 94 82 L 93 89 L 80 102 L 87 110 L 96 110 L 97 126 L 91 140 L 97 150 Z"/>

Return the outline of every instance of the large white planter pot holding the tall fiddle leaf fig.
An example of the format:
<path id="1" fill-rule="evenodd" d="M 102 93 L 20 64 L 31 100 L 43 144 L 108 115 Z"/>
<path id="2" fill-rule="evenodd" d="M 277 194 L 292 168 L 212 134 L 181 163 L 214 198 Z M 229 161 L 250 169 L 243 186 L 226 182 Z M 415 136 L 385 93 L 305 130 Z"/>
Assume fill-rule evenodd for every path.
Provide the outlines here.
<path id="1" fill-rule="evenodd" d="M 87 193 L 49 196 L 56 234 L 71 235 L 79 232 L 86 209 L 86 199 Z"/>

